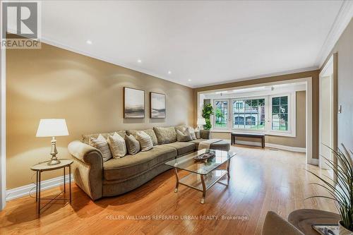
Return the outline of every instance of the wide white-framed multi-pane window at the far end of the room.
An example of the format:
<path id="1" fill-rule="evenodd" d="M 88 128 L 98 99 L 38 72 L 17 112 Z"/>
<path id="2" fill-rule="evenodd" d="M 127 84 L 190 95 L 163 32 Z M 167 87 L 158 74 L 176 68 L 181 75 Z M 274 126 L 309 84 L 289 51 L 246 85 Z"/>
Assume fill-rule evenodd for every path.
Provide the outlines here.
<path id="1" fill-rule="evenodd" d="M 295 92 L 213 100 L 213 129 L 295 136 Z"/>

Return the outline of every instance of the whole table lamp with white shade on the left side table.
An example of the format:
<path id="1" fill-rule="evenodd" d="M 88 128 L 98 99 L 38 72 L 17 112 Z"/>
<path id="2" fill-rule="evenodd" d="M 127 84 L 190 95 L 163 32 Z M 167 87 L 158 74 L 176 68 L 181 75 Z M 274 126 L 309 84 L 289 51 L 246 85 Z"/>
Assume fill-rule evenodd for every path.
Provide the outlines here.
<path id="1" fill-rule="evenodd" d="M 36 137 L 52 137 L 52 158 L 48 162 L 48 165 L 56 165 L 60 163 L 60 160 L 56 157 L 58 151 L 56 150 L 56 139 L 55 136 L 68 135 L 65 119 L 40 119 L 40 125 L 38 126 Z"/>

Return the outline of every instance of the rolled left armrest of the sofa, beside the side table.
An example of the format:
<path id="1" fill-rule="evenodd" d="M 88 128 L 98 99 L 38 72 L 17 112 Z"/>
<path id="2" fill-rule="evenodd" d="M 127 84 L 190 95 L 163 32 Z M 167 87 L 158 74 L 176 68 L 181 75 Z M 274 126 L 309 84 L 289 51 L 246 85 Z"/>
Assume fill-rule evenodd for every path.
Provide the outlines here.
<path id="1" fill-rule="evenodd" d="M 68 144 L 73 157 L 73 178 L 75 183 L 92 200 L 102 198 L 103 157 L 100 150 L 75 140 Z"/>

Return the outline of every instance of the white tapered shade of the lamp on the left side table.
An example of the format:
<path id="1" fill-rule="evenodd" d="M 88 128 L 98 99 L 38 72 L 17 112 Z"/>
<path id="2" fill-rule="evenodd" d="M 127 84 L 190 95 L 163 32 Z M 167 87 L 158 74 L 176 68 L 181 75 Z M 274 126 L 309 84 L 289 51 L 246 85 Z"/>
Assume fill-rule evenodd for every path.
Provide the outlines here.
<path id="1" fill-rule="evenodd" d="M 40 119 L 36 137 L 68 135 L 65 119 Z"/>

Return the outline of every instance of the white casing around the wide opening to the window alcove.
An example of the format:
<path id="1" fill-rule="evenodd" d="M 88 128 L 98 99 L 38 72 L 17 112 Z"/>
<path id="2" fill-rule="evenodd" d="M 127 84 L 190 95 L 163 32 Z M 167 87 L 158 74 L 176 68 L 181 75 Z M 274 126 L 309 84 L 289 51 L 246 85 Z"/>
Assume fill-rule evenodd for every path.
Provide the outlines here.
<path id="1" fill-rule="evenodd" d="M 276 81 L 272 83 L 258 83 L 255 85 L 244 85 L 244 86 L 238 86 L 238 87 L 229 87 L 229 88 L 223 88 L 223 89 L 215 89 L 215 90 L 205 90 L 201 92 L 197 92 L 197 104 L 203 103 L 201 99 L 202 94 L 208 93 L 208 92 L 216 92 L 216 91 L 222 91 L 222 90 L 234 90 L 234 89 L 242 89 L 242 88 L 254 88 L 258 87 L 261 85 L 276 85 L 276 84 L 283 84 L 283 83 L 300 83 L 300 82 L 305 82 L 306 83 L 306 163 L 308 164 L 313 164 L 313 165 L 318 165 L 318 159 L 313 158 L 313 78 L 297 78 L 297 79 L 291 79 L 291 80 L 282 80 L 282 81 Z M 198 107 L 198 112 L 201 112 L 201 107 Z M 198 116 L 201 116 L 200 113 L 198 113 Z"/>

